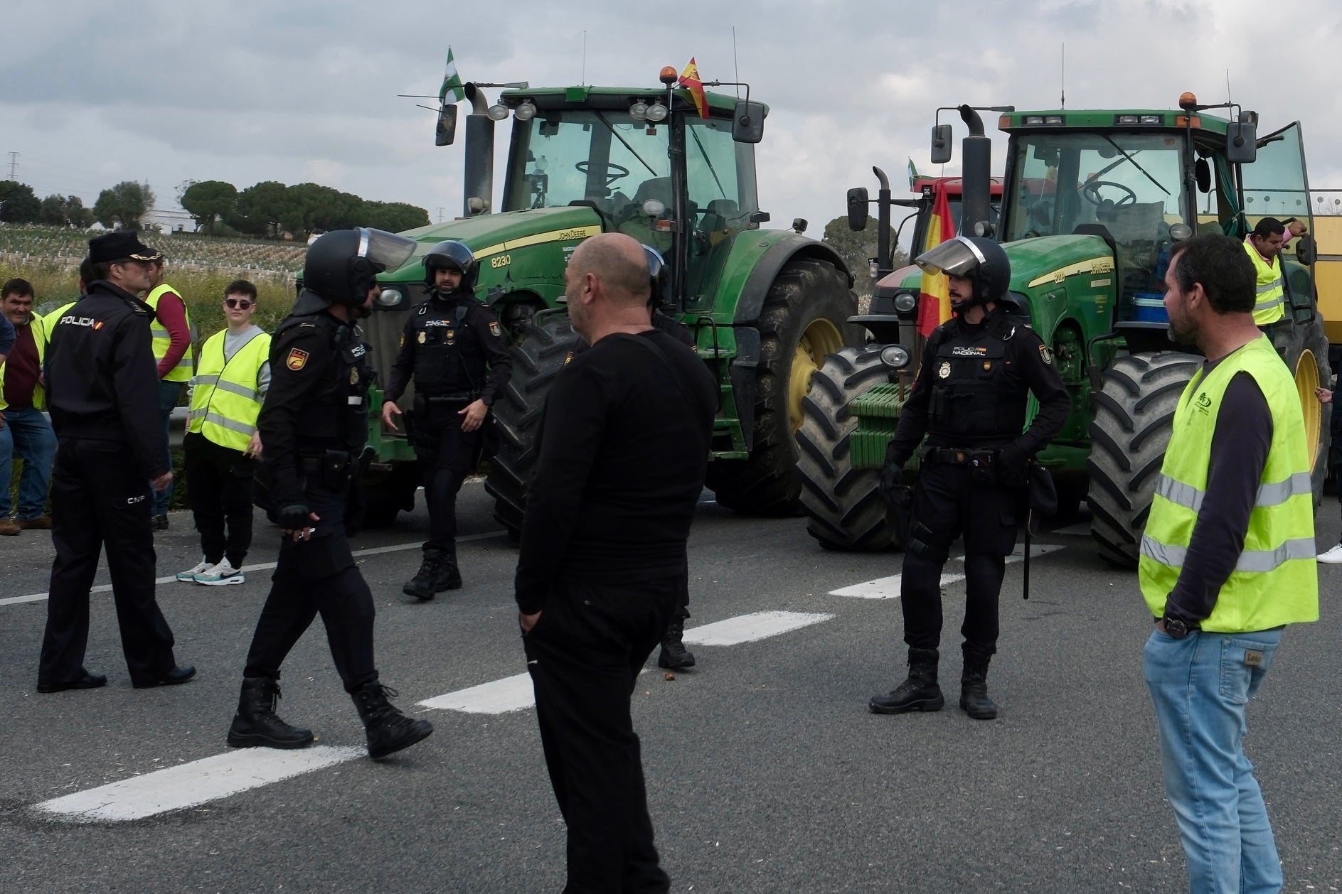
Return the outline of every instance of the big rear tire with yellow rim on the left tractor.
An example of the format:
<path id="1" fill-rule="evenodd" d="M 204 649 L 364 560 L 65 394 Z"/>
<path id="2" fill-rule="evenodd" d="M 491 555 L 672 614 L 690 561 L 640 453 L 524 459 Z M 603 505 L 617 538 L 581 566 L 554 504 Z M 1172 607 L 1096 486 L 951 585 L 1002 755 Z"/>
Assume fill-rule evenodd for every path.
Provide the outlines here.
<path id="1" fill-rule="evenodd" d="M 793 260 L 774 279 L 756 322 L 760 365 L 750 457 L 709 464 L 707 487 L 719 505 L 750 515 L 796 515 L 801 401 L 828 354 L 862 343 L 862 330 L 847 322 L 856 312 L 847 279 L 828 261 Z"/>

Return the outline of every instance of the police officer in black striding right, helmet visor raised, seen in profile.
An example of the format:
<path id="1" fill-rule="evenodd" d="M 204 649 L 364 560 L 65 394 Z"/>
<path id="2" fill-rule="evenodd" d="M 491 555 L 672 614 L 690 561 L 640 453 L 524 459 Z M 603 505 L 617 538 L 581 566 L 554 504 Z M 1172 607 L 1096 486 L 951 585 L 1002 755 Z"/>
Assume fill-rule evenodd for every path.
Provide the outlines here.
<path id="1" fill-rule="evenodd" d="M 385 757 L 433 728 L 386 700 L 373 666 L 373 595 L 354 564 L 360 456 L 368 437 L 368 347 L 356 320 L 378 288 L 374 276 L 409 259 L 415 241 L 380 229 L 325 233 L 307 249 L 303 291 L 271 340 L 271 383 L 256 420 L 270 515 L 283 531 L 270 595 L 243 670 L 235 747 L 302 748 L 307 729 L 275 714 L 279 666 L 319 611 L 336 670 L 368 732 L 368 753 Z"/>

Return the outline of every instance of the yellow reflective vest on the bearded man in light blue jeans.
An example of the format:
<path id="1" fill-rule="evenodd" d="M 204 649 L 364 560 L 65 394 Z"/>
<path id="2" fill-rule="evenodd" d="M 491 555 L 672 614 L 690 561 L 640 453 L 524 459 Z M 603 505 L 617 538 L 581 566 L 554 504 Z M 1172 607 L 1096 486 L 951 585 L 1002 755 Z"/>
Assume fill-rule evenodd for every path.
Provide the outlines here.
<path id="1" fill-rule="evenodd" d="M 1267 399 L 1272 444 L 1235 571 L 1202 621 L 1202 629 L 1215 633 L 1267 630 L 1319 617 L 1304 418 L 1295 379 L 1267 336 L 1225 357 L 1205 378 L 1200 371 L 1180 397 L 1142 536 L 1142 596 L 1153 615 L 1165 614 L 1202 508 L 1217 414 L 1237 373 L 1252 375 Z"/>

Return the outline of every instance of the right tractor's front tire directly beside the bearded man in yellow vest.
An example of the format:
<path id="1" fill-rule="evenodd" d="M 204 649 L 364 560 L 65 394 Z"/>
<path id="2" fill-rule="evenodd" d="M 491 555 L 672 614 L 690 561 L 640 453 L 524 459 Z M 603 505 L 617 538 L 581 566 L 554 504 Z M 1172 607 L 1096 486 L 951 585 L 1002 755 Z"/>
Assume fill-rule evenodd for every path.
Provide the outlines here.
<path id="1" fill-rule="evenodd" d="M 1135 568 L 1151 511 L 1178 398 L 1202 358 L 1180 351 L 1121 357 L 1104 370 L 1092 395 L 1090 493 L 1091 536 L 1099 555 Z"/>

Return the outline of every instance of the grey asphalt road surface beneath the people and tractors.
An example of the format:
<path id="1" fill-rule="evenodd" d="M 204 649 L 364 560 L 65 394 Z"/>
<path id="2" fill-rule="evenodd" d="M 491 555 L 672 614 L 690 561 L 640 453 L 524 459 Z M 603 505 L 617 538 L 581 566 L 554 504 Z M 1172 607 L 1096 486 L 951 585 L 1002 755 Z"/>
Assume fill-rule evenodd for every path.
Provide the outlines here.
<path id="1" fill-rule="evenodd" d="M 208 797 L 207 759 L 244 760 L 213 781 L 248 775 L 250 756 L 228 749 L 224 733 L 268 572 L 234 587 L 158 587 L 178 661 L 200 672 L 168 689 L 130 688 L 110 594 L 95 592 L 86 665 L 109 685 L 42 696 L 44 602 L 13 599 L 47 588 L 50 537 L 4 537 L 0 890 L 560 890 L 564 824 L 534 712 L 417 704 L 525 672 L 515 550 L 497 532 L 478 483 L 460 509 L 463 533 L 483 536 L 462 544 L 466 588 L 448 598 L 412 604 L 400 594 L 427 529 L 421 509 L 356 541 L 357 550 L 408 547 L 360 562 L 377 600 L 382 681 L 400 690 L 403 709 L 432 720 L 433 736 L 381 763 L 325 752 L 337 755 L 331 765 L 130 820 L 36 806 L 132 779 L 164 780 L 169 796 Z M 1321 550 L 1337 535 L 1330 496 Z M 1086 536 L 1055 532 L 1041 543 L 1059 548 L 1033 562 L 1029 602 L 1019 595 L 1021 566 L 1008 568 L 989 676 L 1000 717 L 972 721 L 953 698 L 939 713 L 878 717 L 867 698 L 903 677 L 898 599 L 831 592 L 898 574 L 899 555 L 824 552 L 798 519 L 738 517 L 706 501 L 691 537 L 691 631 L 753 613 L 819 618 L 769 615 L 807 623 L 692 646 L 694 670 L 668 681 L 654 669 L 640 680 L 635 722 L 672 890 L 1185 890 L 1141 674 L 1150 619 L 1135 576 L 1102 564 Z M 248 563 L 274 562 L 276 544 L 262 523 Z M 189 516 L 174 513 L 156 546 L 161 576 L 193 564 Z M 1288 891 L 1342 889 L 1334 701 L 1342 618 L 1333 610 L 1342 567 L 1321 566 L 1319 580 L 1322 621 L 1288 631 L 1249 708 L 1248 749 Z M 945 594 L 950 696 L 964 583 L 947 583 Z M 319 622 L 286 663 L 280 713 L 317 730 L 322 747 L 362 745 Z M 173 767 L 176 775 L 165 773 Z"/>

